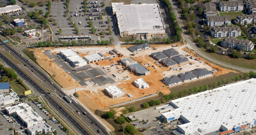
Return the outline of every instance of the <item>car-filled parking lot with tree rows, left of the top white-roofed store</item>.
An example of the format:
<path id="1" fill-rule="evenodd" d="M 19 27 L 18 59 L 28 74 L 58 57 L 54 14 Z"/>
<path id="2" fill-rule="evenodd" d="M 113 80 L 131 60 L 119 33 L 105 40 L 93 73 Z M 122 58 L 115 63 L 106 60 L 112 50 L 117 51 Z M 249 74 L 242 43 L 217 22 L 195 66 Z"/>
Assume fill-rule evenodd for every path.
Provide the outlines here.
<path id="1" fill-rule="evenodd" d="M 58 22 L 57 26 L 52 26 L 54 33 L 57 33 L 58 29 L 61 28 L 63 36 L 75 35 L 74 27 L 69 21 L 69 17 L 72 18 L 72 21 L 76 23 L 77 28 L 79 28 L 79 35 L 91 35 L 91 28 L 88 26 L 89 20 L 93 23 L 96 33 L 99 34 L 101 31 L 104 31 L 104 35 L 98 37 L 92 35 L 92 40 L 109 40 L 109 31 L 107 26 L 111 26 L 112 21 L 107 21 L 107 18 L 111 19 L 111 10 L 110 7 L 103 7 L 103 1 L 87 1 L 87 12 L 83 7 L 83 0 L 72 1 L 69 4 L 69 13 L 68 17 L 65 17 L 65 3 L 64 2 L 52 2 L 52 17 Z M 107 4 L 106 4 L 107 6 Z M 106 12 L 104 13 L 104 11 Z M 99 15 L 103 16 L 103 20 L 99 19 Z M 107 36 L 107 37 L 105 37 Z M 58 39 L 59 35 L 55 34 L 55 41 Z M 114 37 L 115 38 L 115 37 Z"/>

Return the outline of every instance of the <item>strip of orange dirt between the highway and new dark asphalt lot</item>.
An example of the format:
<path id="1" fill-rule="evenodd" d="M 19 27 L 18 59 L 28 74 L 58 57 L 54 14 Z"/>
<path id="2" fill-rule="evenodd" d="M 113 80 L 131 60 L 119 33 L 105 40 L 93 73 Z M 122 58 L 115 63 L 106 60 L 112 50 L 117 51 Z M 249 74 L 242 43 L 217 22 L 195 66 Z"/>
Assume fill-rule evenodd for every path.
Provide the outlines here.
<path id="1" fill-rule="evenodd" d="M 50 60 L 40 48 L 34 50 L 36 56 L 36 62 L 50 74 L 61 87 L 69 88 L 74 86 L 73 79 L 68 73 L 64 72 L 61 67 L 57 66 L 52 60 Z M 55 69 L 56 68 L 56 69 Z M 55 75 L 56 74 L 56 75 Z"/>

